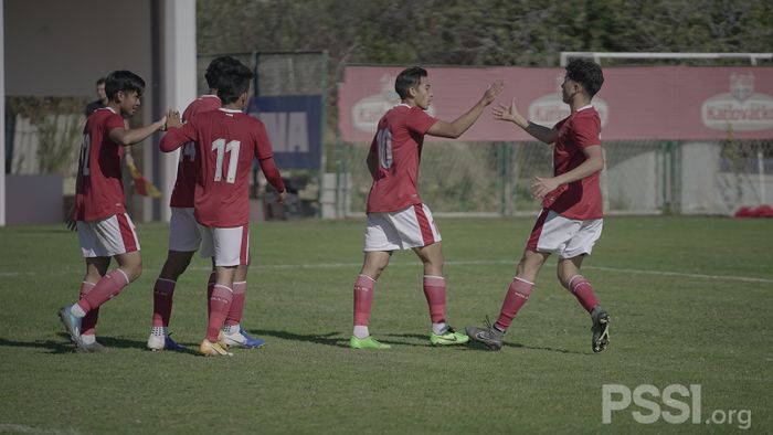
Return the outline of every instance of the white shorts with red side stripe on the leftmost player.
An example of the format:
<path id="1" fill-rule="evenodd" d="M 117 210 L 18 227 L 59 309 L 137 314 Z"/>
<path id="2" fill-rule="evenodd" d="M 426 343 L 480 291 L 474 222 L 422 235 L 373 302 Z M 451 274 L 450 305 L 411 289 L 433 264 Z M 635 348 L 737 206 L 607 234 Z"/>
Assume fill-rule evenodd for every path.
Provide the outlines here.
<path id="1" fill-rule="evenodd" d="M 86 258 L 112 257 L 139 251 L 135 224 L 127 213 L 99 221 L 77 221 L 77 238 Z"/>

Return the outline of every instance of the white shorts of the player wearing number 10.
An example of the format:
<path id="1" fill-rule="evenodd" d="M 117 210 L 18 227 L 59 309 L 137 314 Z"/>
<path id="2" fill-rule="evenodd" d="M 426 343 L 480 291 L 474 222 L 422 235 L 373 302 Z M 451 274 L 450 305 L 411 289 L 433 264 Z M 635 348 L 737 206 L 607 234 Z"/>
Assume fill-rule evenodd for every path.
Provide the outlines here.
<path id="1" fill-rule="evenodd" d="M 389 213 L 368 213 L 363 251 L 398 251 L 441 241 L 432 212 L 425 204 Z"/>

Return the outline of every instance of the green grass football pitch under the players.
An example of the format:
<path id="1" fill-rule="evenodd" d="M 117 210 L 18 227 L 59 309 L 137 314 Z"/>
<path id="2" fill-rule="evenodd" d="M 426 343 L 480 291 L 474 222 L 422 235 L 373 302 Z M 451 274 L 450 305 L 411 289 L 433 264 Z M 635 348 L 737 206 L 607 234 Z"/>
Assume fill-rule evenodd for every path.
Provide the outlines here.
<path id="1" fill-rule="evenodd" d="M 451 323 L 495 319 L 532 220 L 437 221 Z M 267 346 L 230 359 L 145 350 L 166 225 L 138 225 L 144 274 L 102 308 L 104 354 L 73 353 L 56 317 L 75 300 L 84 270 L 75 234 L 0 229 L 0 432 L 741 432 L 730 410 L 749 411 L 748 432 L 773 431 L 772 220 L 608 217 L 583 267 L 613 321 L 600 354 L 554 261 L 500 352 L 430 347 L 422 269 L 409 252 L 393 256 L 373 301 L 371 332 L 392 349 L 350 350 L 362 229 L 361 221 L 254 226 L 243 326 Z M 190 347 L 205 331 L 207 277 L 208 262 L 195 257 L 176 291 L 170 330 Z M 717 418 L 645 425 L 632 412 L 650 411 L 632 404 L 602 424 L 604 384 L 700 384 L 702 421 Z"/>

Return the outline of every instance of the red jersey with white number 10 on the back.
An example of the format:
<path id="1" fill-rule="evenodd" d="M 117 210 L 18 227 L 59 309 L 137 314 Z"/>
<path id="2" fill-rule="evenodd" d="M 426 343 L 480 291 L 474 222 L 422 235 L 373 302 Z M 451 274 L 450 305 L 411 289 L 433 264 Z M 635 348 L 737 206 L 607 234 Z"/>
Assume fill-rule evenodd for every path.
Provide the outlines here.
<path id="1" fill-rule="evenodd" d="M 379 120 L 370 146 L 378 156 L 375 177 L 368 194 L 368 213 L 394 212 L 420 204 L 419 163 L 424 135 L 437 123 L 421 107 L 392 107 Z"/>

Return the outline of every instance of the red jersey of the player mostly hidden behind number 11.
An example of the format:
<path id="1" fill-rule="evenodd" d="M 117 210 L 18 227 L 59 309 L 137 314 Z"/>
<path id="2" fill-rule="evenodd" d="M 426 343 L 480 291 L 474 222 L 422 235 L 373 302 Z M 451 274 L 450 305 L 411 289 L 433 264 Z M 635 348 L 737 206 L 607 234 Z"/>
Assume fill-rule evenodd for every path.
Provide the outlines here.
<path id="1" fill-rule="evenodd" d="M 188 105 L 186 112 L 182 113 L 182 119 L 188 120 L 197 114 L 211 112 L 220 108 L 220 106 L 222 106 L 222 104 L 216 95 L 202 95 Z M 172 198 L 169 201 L 170 206 L 193 206 L 195 168 L 195 144 L 188 142 L 180 150 L 180 162 L 177 166 L 177 180 L 174 180 Z"/>

